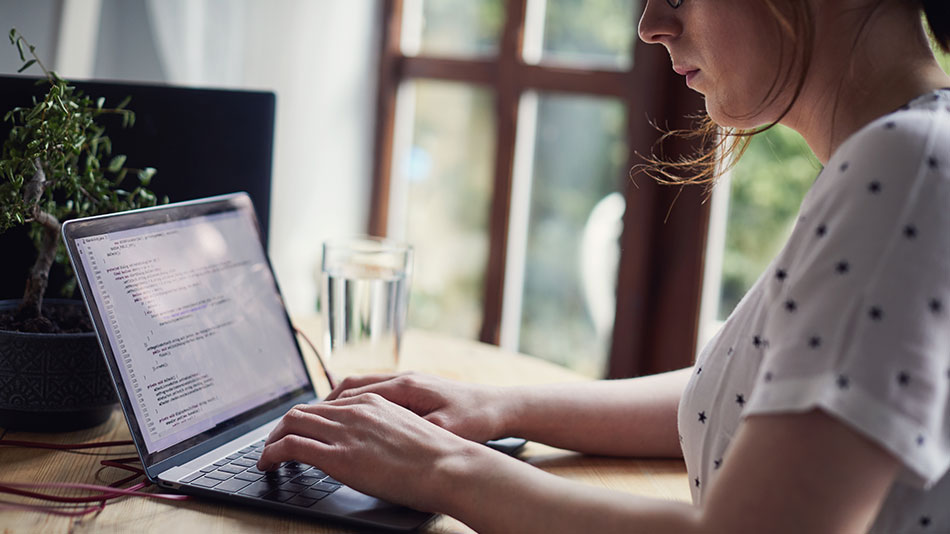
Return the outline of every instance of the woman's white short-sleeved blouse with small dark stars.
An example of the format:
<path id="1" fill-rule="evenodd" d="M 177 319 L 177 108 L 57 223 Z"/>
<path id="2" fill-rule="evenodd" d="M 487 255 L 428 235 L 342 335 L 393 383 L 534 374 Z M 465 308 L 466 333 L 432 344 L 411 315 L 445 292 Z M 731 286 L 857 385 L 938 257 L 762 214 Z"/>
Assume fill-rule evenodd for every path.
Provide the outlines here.
<path id="1" fill-rule="evenodd" d="M 741 417 L 814 408 L 903 463 L 871 532 L 950 532 L 950 89 L 841 145 L 698 358 L 678 415 L 693 501 L 742 461 Z"/>

